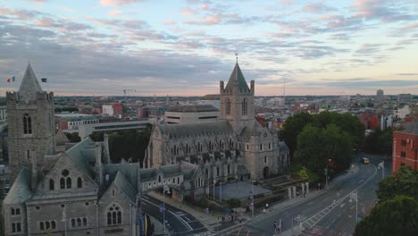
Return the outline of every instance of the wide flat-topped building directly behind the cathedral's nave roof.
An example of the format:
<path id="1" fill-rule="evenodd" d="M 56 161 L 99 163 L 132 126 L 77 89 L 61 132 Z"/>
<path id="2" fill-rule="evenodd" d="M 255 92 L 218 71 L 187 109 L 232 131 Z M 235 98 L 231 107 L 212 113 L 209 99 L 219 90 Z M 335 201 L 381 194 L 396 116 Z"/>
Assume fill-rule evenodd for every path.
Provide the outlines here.
<path id="1" fill-rule="evenodd" d="M 219 110 L 213 105 L 176 105 L 164 114 L 167 123 L 214 122 Z"/>

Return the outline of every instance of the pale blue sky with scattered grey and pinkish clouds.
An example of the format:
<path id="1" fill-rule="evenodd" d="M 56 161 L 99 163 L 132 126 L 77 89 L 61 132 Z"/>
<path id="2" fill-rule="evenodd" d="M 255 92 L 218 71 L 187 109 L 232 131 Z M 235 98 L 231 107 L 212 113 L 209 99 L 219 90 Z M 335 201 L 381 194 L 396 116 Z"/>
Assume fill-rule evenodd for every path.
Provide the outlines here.
<path id="1" fill-rule="evenodd" d="M 0 0 L 0 96 L 28 63 L 58 96 L 216 94 L 236 53 L 256 96 L 418 94 L 418 0 Z"/>

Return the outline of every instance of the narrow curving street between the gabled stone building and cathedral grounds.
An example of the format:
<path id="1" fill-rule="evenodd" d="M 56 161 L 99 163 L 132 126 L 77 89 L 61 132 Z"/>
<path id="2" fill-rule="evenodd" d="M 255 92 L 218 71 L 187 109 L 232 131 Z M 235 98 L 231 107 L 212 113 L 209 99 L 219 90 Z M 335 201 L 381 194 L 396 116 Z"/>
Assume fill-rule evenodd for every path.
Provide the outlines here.
<path id="1" fill-rule="evenodd" d="M 160 212 L 159 206 L 162 204 L 160 200 L 147 195 L 142 198 L 144 213 L 153 216 L 161 223 L 163 222 L 163 213 Z M 167 227 L 170 229 L 170 235 L 203 235 L 204 232 L 207 232 L 205 226 L 193 215 L 168 204 L 165 204 L 165 208 L 165 220 L 170 224 Z"/>

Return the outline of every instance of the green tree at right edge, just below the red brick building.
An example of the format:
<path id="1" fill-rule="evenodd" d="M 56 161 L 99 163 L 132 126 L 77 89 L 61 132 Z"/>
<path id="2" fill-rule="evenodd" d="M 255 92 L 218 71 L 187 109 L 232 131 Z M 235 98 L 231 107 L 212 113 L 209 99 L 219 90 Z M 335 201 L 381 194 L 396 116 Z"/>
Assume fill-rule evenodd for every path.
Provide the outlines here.
<path id="1" fill-rule="evenodd" d="M 380 202 L 404 195 L 418 200 L 418 171 L 409 166 L 401 166 L 397 175 L 389 176 L 379 182 L 376 190 Z"/>

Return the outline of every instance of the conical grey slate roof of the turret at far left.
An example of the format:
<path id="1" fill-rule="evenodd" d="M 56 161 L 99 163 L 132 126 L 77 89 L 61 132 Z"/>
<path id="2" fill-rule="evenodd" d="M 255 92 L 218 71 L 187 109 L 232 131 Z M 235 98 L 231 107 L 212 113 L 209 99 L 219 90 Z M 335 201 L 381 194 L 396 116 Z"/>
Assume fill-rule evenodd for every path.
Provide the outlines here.
<path id="1" fill-rule="evenodd" d="M 31 198 L 30 191 L 30 171 L 27 167 L 23 167 L 13 182 L 12 188 L 4 198 L 3 203 L 7 205 L 21 204 Z"/>

